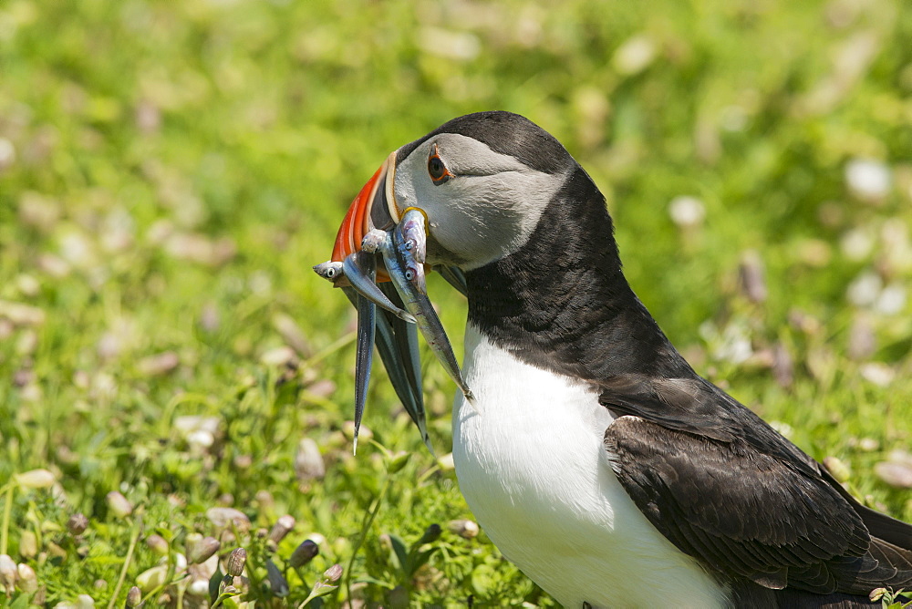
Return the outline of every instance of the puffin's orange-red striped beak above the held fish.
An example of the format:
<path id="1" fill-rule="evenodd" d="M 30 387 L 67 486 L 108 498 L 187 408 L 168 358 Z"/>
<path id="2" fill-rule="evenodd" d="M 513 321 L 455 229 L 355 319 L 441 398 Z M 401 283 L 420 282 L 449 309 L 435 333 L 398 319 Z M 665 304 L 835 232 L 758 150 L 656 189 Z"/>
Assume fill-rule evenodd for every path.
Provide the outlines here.
<path id="1" fill-rule="evenodd" d="M 390 153 L 373 177 L 364 185 L 358 196 L 348 207 L 345 219 L 339 226 L 332 260 L 342 262 L 361 249 L 364 235 L 372 229 L 389 229 L 399 222 L 399 210 L 393 193 L 393 178 L 396 173 L 396 152 Z M 389 276 L 378 269 L 377 281 L 389 281 Z"/>

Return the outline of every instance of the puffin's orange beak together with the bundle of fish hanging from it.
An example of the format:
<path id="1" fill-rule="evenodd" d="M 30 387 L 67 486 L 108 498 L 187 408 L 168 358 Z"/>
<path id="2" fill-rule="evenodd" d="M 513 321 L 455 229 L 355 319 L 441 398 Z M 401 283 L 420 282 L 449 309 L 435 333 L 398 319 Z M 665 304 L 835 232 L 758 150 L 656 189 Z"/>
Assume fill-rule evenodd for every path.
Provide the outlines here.
<path id="1" fill-rule="evenodd" d="M 427 218 L 417 208 L 399 212 L 395 172 L 393 152 L 352 201 L 339 227 L 332 258 L 317 264 L 314 271 L 342 288 L 358 310 L 354 448 L 358 449 L 376 341 L 399 399 L 433 454 L 421 391 L 416 325 L 470 404 L 474 396 L 461 377 L 450 340 L 427 296 Z M 465 278 L 459 269 L 439 270 L 464 294 Z"/>

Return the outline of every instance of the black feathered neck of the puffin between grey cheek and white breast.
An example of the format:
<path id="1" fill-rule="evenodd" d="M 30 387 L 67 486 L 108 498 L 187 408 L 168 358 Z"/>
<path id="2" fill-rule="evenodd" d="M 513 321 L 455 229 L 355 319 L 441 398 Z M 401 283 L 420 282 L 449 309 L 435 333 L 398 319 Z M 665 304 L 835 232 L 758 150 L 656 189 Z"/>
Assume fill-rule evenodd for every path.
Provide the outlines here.
<path id="1" fill-rule="evenodd" d="M 590 382 L 693 374 L 627 284 L 613 232 L 577 166 L 528 243 L 466 274 L 469 322 L 523 361 Z"/>

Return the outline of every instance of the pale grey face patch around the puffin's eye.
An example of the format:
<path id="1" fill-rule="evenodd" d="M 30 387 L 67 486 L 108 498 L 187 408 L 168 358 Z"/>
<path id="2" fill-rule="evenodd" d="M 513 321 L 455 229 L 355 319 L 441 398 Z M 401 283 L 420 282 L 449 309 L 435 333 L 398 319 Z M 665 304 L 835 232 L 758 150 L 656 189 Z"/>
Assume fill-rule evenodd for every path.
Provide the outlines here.
<path id="1" fill-rule="evenodd" d="M 441 184 L 435 184 L 428 173 L 434 145 L 454 174 Z M 471 270 L 518 250 L 566 175 L 534 170 L 477 139 L 440 133 L 399 162 L 394 188 L 399 211 L 424 210 L 430 236 L 449 253 L 429 243 L 428 262 L 455 263 Z"/>

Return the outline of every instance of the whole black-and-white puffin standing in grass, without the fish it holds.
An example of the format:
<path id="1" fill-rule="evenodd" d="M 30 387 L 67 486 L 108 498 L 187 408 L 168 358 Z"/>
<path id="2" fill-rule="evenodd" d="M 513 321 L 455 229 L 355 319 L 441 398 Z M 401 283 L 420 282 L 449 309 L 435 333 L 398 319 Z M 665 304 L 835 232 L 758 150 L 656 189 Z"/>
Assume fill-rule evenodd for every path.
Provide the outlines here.
<path id="1" fill-rule="evenodd" d="M 551 134 L 488 111 L 395 150 L 334 259 L 409 209 L 427 221 L 426 263 L 468 297 L 461 492 L 557 602 L 848 608 L 912 587 L 912 526 L 694 371 L 627 284 L 605 197 Z M 393 345 L 378 344 L 388 367 L 411 361 Z"/>

